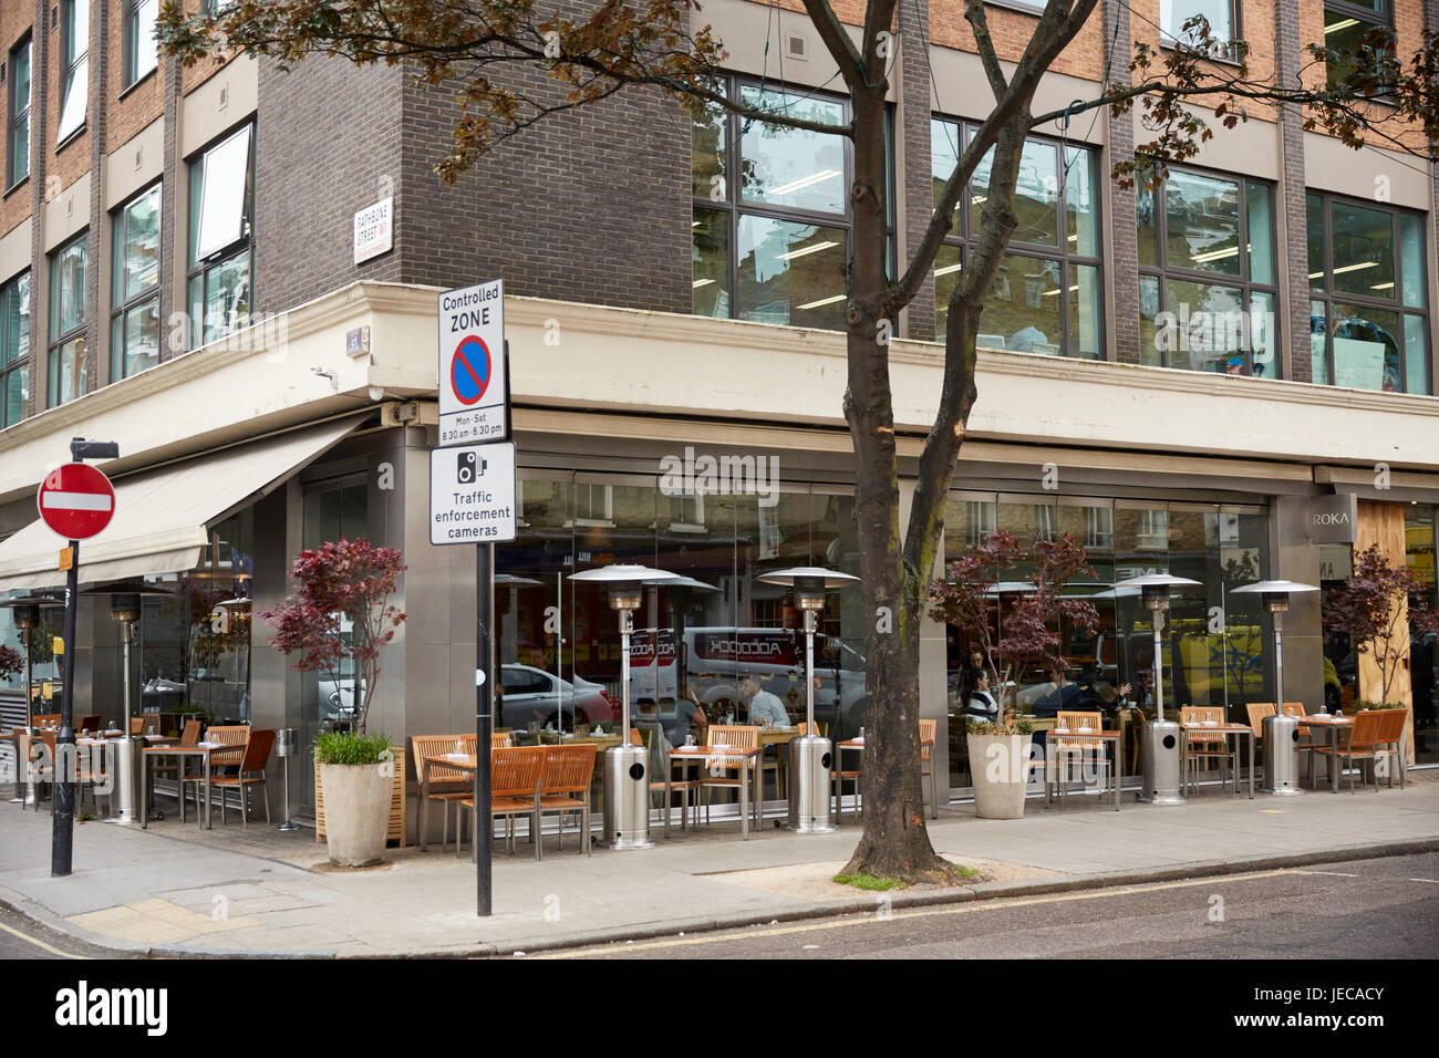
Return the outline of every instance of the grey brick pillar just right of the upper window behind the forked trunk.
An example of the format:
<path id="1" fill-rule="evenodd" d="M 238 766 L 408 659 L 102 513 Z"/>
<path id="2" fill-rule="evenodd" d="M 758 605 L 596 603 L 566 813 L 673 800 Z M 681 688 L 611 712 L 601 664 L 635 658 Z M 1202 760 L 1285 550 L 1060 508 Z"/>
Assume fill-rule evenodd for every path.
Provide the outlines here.
<path id="1" fill-rule="evenodd" d="M 1130 7 L 1122 0 L 1104 0 L 1104 60 L 1109 83 L 1127 83 L 1132 36 Z M 1109 140 L 1108 163 L 1134 157 L 1134 117 L 1115 118 L 1105 109 Z M 1135 232 L 1134 189 L 1120 187 L 1105 176 L 1109 187 L 1109 212 L 1104 217 L 1104 238 L 1109 245 L 1109 275 L 1114 309 L 1107 320 L 1109 330 L 1108 356 L 1124 364 L 1140 363 L 1140 255 Z"/>

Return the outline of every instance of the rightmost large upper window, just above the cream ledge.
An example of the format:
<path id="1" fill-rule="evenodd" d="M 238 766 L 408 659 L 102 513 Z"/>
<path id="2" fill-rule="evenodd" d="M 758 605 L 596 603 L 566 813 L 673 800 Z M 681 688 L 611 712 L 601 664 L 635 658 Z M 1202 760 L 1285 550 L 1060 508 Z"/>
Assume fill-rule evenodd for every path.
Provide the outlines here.
<path id="1" fill-rule="evenodd" d="M 1314 381 L 1429 393 L 1423 216 L 1311 191 Z"/>

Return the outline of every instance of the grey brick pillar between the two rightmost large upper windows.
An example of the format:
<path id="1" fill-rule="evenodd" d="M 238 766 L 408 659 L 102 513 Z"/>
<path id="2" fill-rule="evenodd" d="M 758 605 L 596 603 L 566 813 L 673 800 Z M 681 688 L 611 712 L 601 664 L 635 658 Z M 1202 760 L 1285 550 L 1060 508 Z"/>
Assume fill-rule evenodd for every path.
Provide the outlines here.
<path id="1" fill-rule="evenodd" d="M 1278 0 L 1274 6 L 1275 73 L 1292 82 L 1299 72 L 1299 0 Z M 1279 377 L 1314 381 L 1309 354 L 1309 239 L 1304 209 L 1304 114 L 1298 107 L 1279 107 L 1279 143 L 1284 180 L 1278 210 L 1284 217 L 1284 250 L 1279 281 L 1288 288 L 1289 311 L 1279 321 L 1286 348 L 1281 350 Z"/>

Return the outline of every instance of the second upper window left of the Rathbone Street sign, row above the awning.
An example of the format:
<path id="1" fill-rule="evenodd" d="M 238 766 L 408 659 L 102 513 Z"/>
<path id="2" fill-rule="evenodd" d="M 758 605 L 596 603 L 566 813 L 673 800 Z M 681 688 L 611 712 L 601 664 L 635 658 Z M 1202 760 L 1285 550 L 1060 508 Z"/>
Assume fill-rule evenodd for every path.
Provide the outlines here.
<path id="1" fill-rule="evenodd" d="M 115 214 L 111 379 L 160 363 L 160 184 Z"/>

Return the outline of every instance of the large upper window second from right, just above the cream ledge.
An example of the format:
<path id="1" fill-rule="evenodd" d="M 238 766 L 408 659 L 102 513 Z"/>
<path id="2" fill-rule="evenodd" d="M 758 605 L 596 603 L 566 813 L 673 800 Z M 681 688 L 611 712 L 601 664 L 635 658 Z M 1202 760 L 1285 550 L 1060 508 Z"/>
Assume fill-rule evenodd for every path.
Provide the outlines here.
<path id="1" fill-rule="evenodd" d="M 1171 168 L 1135 210 L 1140 361 L 1278 377 L 1274 187 Z"/>

